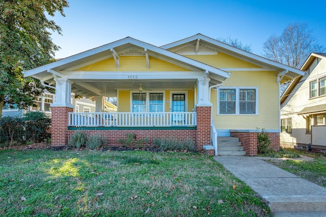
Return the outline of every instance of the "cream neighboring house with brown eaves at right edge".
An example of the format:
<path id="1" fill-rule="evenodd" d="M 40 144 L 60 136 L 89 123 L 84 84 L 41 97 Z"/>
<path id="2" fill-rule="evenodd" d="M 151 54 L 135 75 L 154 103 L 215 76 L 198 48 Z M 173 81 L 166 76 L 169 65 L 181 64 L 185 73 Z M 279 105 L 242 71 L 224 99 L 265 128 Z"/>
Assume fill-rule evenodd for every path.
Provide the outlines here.
<path id="1" fill-rule="evenodd" d="M 311 53 L 281 97 L 280 143 L 326 152 L 326 53 Z"/>

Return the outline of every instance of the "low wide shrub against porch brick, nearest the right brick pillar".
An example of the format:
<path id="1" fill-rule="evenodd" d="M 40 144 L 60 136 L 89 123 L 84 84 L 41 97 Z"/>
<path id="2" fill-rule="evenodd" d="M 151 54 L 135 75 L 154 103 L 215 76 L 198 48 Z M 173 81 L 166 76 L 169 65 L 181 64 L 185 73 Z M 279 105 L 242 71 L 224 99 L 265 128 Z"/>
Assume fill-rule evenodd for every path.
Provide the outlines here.
<path id="1" fill-rule="evenodd" d="M 187 151 L 194 151 L 196 150 L 195 142 L 191 138 L 186 138 L 185 140 L 178 140 L 173 138 L 172 136 L 169 139 L 163 137 L 156 137 L 154 138 L 153 143 L 156 145 L 159 151 L 166 151 L 166 150 L 187 150 Z"/>

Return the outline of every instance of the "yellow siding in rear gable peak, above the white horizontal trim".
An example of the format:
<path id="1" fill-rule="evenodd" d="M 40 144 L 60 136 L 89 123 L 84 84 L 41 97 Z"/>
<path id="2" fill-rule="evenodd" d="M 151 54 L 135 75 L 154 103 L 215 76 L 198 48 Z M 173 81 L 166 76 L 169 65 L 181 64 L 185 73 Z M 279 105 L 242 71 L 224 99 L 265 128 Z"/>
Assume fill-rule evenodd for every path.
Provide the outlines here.
<path id="1" fill-rule="evenodd" d="M 235 58 L 225 53 L 219 52 L 218 55 L 185 55 L 202 63 L 216 68 L 261 68 L 247 61 Z"/>

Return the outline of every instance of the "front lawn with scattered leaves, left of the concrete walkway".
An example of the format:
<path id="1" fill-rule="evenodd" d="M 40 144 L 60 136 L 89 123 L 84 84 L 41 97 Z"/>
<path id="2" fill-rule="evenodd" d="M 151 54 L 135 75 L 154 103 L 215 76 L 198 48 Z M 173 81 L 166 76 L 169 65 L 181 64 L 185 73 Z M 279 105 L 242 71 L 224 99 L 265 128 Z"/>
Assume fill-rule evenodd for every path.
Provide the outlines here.
<path id="1" fill-rule="evenodd" d="M 0 215 L 271 216 L 203 154 L 46 149 L 0 151 Z"/>

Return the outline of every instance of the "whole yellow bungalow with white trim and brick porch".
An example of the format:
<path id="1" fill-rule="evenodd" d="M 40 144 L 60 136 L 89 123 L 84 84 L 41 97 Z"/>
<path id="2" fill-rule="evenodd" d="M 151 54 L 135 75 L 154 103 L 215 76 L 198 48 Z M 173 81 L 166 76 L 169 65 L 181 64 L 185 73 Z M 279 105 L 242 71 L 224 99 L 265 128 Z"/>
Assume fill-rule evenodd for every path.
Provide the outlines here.
<path id="1" fill-rule="evenodd" d="M 257 128 L 279 148 L 279 85 L 302 75 L 200 34 L 161 47 L 127 37 L 25 72 L 56 87 L 52 145 L 76 130 L 110 145 L 131 132 L 150 141 L 188 137 L 208 154 L 228 154 L 219 144 L 232 146 L 223 142 L 231 137 L 249 155 Z M 96 112 L 73 112 L 71 92 L 95 99 Z M 117 112 L 101 112 L 105 97 L 117 97 Z"/>

